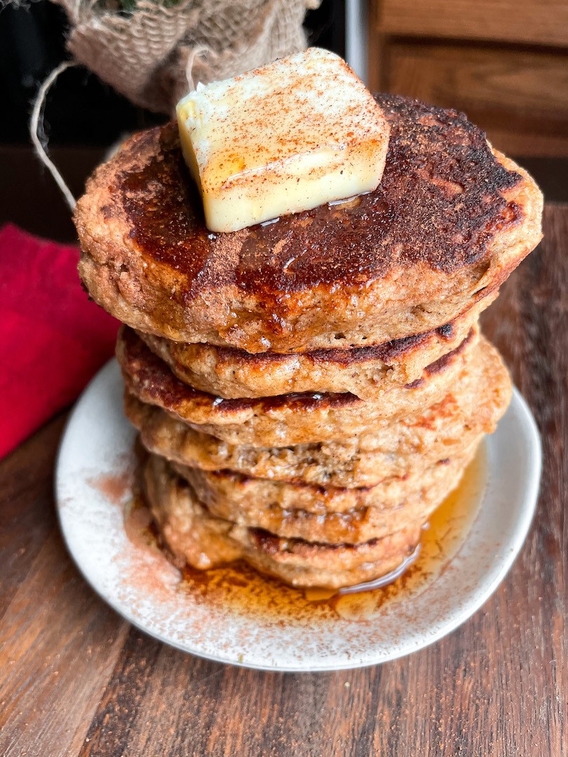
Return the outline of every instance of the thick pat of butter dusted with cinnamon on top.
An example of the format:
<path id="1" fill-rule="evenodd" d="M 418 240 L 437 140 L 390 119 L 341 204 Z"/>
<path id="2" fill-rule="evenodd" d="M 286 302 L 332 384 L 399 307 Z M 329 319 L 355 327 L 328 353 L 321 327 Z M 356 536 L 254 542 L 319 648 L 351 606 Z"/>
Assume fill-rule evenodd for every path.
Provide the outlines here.
<path id="1" fill-rule="evenodd" d="M 176 111 L 211 231 L 310 210 L 381 180 L 389 124 L 364 83 L 326 50 L 198 86 Z"/>

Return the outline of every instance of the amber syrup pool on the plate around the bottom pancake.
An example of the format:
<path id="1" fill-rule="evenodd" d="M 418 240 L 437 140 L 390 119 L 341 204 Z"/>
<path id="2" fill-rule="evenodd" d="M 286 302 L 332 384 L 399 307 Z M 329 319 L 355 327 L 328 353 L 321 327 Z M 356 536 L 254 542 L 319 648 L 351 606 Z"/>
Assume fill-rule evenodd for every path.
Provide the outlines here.
<path id="1" fill-rule="evenodd" d="M 479 447 L 459 486 L 432 513 L 423 530 L 420 547 L 401 569 L 388 576 L 334 591 L 300 590 L 260 575 L 245 562 L 200 571 L 186 567 L 179 590 L 200 604 L 224 606 L 235 612 L 278 621 L 309 616 L 314 620 L 369 621 L 379 617 L 385 603 L 404 601 L 420 593 L 451 562 L 479 512 L 487 476 L 485 444 Z M 125 514 L 126 533 L 135 544 L 155 548 L 155 534 L 148 528 L 148 510 L 135 499 Z"/>

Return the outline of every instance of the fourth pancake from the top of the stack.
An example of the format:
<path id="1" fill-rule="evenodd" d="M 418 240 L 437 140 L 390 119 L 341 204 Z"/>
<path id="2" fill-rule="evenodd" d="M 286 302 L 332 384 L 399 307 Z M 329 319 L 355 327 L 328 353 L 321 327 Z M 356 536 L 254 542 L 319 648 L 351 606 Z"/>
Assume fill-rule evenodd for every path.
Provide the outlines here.
<path id="1" fill-rule="evenodd" d="M 510 399 L 507 372 L 503 370 L 497 378 L 492 388 L 479 388 L 482 396 L 475 410 L 462 407 L 452 393 L 415 419 L 370 427 L 360 438 L 294 447 L 226 444 L 132 394 L 125 395 L 124 403 L 144 447 L 176 463 L 274 481 L 357 488 L 413 475 L 477 444 L 483 432 L 495 428 Z"/>

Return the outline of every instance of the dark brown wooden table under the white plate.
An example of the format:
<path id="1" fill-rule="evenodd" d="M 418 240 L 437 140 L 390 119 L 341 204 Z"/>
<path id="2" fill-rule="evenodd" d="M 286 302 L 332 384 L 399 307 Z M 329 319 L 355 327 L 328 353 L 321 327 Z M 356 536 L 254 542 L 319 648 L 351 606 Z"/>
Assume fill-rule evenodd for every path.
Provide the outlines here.
<path id="1" fill-rule="evenodd" d="M 568 205 L 485 317 L 542 432 L 535 522 L 461 628 L 405 659 L 274 674 L 205 662 L 109 609 L 67 555 L 52 495 L 65 417 L 0 463 L 0 754 L 568 754 Z"/>

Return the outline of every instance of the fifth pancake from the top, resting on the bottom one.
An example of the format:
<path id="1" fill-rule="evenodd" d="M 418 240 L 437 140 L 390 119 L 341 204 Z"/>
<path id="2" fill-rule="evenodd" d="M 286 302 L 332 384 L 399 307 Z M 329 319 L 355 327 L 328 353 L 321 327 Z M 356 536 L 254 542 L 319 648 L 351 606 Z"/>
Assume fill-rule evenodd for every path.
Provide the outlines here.
<path id="1" fill-rule="evenodd" d="M 408 478 L 374 487 L 322 488 L 173 463 L 211 515 L 280 537 L 360 544 L 425 523 L 456 488 L 476 447 Z"/>

